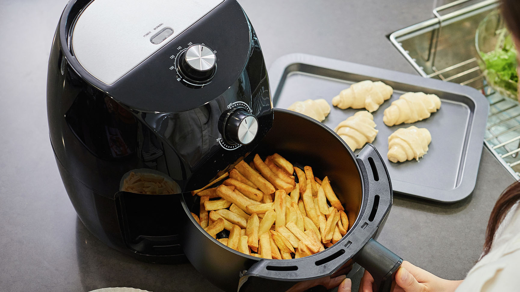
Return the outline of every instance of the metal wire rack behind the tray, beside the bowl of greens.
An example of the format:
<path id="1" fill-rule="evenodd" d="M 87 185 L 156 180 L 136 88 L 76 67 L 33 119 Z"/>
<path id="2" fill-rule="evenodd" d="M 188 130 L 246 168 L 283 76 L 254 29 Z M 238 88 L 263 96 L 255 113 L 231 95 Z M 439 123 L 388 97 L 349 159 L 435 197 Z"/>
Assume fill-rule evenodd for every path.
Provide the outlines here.
<path id="1" fill-rule="evenodd" d="M 459 0 L 433 10 L 430 19 L 389 36 L 394 46 L 424 77 L 476 88 L 490 104 L 485 145 L 504 167 L 520 179 L 520 105 L 486 84 L 474 47 L 476 25 L 498 6 L 497 0 Z M 474 1 L 473 1 L 474 2 Z M 451 12 L 442 15 L 440 11 Z"/>

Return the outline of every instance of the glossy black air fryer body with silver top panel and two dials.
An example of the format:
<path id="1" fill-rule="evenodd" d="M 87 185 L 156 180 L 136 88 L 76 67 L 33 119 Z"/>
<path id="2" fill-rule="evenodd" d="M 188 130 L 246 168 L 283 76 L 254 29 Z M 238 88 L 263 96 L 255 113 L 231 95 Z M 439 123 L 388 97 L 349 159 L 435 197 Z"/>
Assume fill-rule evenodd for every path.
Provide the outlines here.
<path id="1" fill-rule="evenodd" d="M 124 7 L 137 1 L 129 1 L 124 9 L 114 11 L 120 22 L 94 17 L 96 25 L 105 28 L 100 28 L 102 33 L 90 31 L 86 25 L 93 18 L 90 10 L 113 2 L 118 1 L 70 1 L 63 11 L 48 67 L 51 144 L 70 200 L 90 232 L 140 260 L 180 262 L 185 257 L 180 226 L 175 223 L 186 220 L 180 193 L 199 189 L 226 172 L 271 128 L 273 112 L 262 51 L 251 23 L 233 0 L 213 0 L 214 7 L 180 29 L 175 20 L 158 18 L 147 20 L 157 25 L 135 32 L 125 31 L 125 25 L 135 27 L 148 16 L 138 13 L 132 18 L 135 11 Z M 163 2 L 141 1 L 158 6 L 149 7 L 151 16 L 153 11 L 168 10 L 162 4 L 176 3 Z M 193 12 L 184 12 L 171 11 L 175 17 L 186 14 L 193 19 Z M 122 37 L 123 41 L 109 45 L 85 43 L 85 35 L 105 30 L 132 37 L 135 33 L 136 43 Z M 112 41 L 112 36 L 103 37 Z M 110 57 L 120 58 L 118 50 L 131 59 L 131 53 L 136 54 L 134 45 L 156 49 L 142 53 L 144 57 L 135 64 L 121 58 L 121 64 L 129 66 L 119 72 L 121 76 L 112 74 L 111 79 L 97 73 L 99 68 L 101 73 L 118 68 Z M 197 64 L 194 68 L 187 63 L 193 53 L 209 56 L 202 56 L 202 61 L 209 60 L 205 67 L 202 61 L 198 70 Z M 101 66 L 94 68 L 96 62 Z M 249 139 L 240 140 L 245 132 L 239 128 L 248 121 L 257 122 L 256 136 L 250 133 Z M 175 186 L 175 193 L 122 191 L 131 172 L 163 176 Z"/>

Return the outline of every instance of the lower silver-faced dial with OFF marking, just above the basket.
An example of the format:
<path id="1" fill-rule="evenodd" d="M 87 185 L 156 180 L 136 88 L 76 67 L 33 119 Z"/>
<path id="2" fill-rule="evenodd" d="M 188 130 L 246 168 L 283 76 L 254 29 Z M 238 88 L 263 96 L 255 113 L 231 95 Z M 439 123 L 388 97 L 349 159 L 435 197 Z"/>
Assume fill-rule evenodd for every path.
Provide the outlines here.
<path id="1" fill-rule="evenodd" d="M 258 120 L 245 109 L 238 108 L 228 113 L 222 127 L 227 142 L 248 145 L 256 137 Z"/>

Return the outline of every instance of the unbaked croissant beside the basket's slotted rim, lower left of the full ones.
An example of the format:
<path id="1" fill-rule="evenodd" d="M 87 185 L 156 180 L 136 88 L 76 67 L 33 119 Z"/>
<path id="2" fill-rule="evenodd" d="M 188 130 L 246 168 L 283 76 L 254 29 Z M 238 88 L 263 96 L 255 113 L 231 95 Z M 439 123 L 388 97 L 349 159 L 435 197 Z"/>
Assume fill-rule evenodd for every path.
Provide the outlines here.
<path id="1" fill-rule="evenodd" d="M 352 151 L 363 147 L 365 143 L 372 143 L 378 130 L 375 129 L 374 116 L 362 110 L 342 121 L 334 129 L 347 143 Z"/>

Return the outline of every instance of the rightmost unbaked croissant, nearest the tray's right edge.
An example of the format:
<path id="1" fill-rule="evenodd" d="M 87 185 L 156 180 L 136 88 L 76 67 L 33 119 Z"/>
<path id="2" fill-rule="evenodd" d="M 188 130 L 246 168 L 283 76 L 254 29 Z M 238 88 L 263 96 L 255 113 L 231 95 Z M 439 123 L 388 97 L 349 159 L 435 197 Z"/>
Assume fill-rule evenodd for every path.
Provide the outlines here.
<path id="1" fill-rule="evenodd" d="M 385 109 L 383 122 L 391 127 L 400 123 L 413 123 L 429 118 L 440 108 L 440 99 L 435 94 L 407 92 Z"/>

